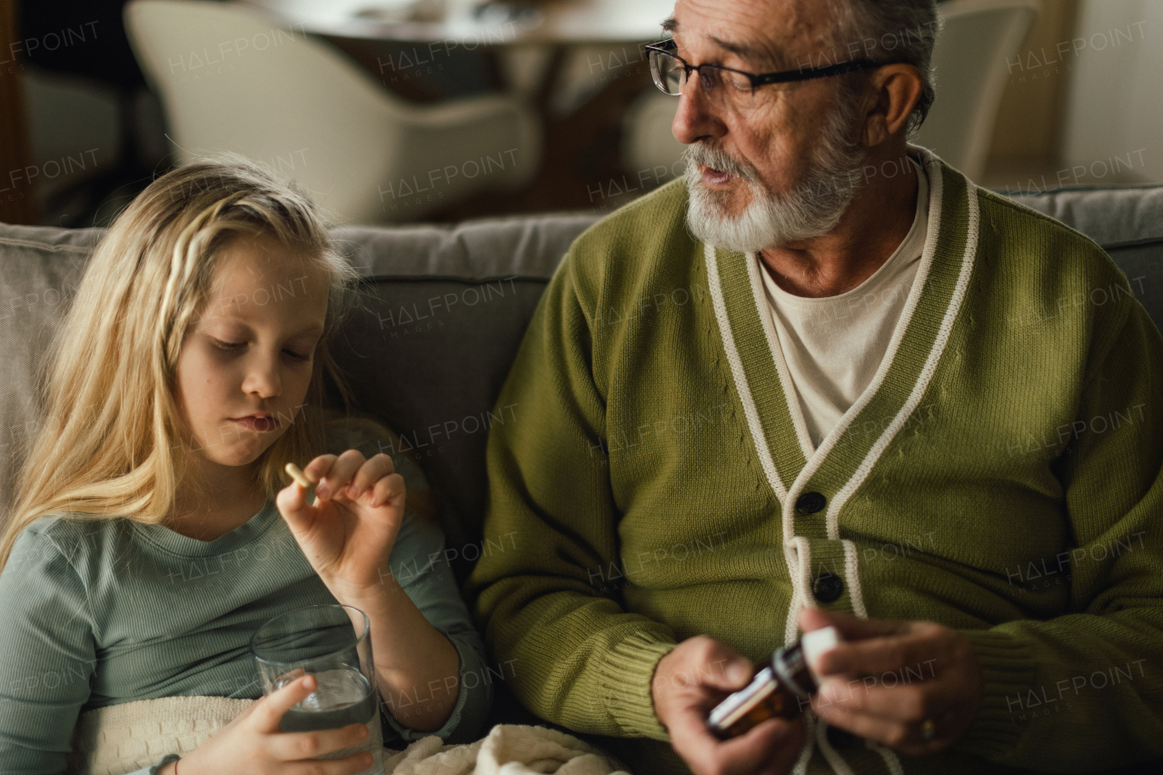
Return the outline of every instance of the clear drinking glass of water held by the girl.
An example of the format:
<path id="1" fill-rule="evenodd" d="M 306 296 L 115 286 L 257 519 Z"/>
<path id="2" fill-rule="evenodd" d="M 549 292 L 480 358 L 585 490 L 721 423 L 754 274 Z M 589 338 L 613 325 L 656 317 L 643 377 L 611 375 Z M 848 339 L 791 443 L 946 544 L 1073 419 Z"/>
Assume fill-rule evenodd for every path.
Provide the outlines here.
<path id="1" fill-rule="evenodd" d="M 342 759 L 361 751 L 372 766 L 359 775 L 383 775 L 384 740 L 379 726 L 379 687 L 371 654 L 371 621 L 350 605 L 308 605 L 269 620 L 250 639 L 250 650 L 270 695 L 311 673 L 315 690 L 279 721 L 284 732 L 334 730 L 356 721 L 368 725 L 357 746 L 323 754 Z"/>

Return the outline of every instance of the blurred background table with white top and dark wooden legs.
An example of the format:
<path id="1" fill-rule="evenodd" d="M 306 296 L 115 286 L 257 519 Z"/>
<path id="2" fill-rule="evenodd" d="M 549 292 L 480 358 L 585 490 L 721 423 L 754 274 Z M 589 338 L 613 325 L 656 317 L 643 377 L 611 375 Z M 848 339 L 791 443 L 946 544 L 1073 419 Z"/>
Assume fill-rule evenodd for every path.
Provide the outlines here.
<path id="1" fill-rule="evenodd" d="M 675 9 L 675 0 L 234 1 L 323 37 L 405 99 L 501 90 L 530 101 L 544 128 L 537 178 L 519 192 L 481 194 L 434 216 L 450 222 L 621 204 L 606 192 L 620 191 L 616 182 L 628 175 L 622 116 L 654 88 L 642 43 L 663 37 L 662 22 Z M 421 65 L 427 74 L 409 78 Z M 563 107 L 558 98 L 571 88 L 578 98 Z"/>

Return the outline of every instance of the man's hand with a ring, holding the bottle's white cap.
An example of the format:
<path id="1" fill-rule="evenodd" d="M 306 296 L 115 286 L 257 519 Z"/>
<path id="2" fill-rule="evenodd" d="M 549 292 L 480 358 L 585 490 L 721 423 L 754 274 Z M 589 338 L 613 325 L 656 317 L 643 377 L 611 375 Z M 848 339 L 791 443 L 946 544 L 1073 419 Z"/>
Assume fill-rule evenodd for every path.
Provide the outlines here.
<path id="1" fill-rule="evenodd" d="M 956 630 L 820 609 L 798 617 L 805 632 L 830 625 L 846 641 L 816 666 L 820 691 L 812 708 L 828 724 L 914 756 L 951 745 L 972 724 L 982 669 L 969 639 Z"/>

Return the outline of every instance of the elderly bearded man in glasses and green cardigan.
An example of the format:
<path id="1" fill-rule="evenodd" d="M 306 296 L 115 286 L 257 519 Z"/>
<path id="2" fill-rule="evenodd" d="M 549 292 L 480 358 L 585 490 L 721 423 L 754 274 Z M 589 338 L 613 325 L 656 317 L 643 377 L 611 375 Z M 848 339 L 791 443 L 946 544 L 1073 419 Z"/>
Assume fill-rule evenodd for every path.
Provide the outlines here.
<path id="1" fill-rule="evenodd" d="M 575 242 L 504 388 L 478 619 L 636 773 L 1163 755 L 1163 340 L 1093 242 L 906 142 L 936 28 L 679 0 L 686 179 Z M 801 719 L 707 731 L 825 625 Z"/>

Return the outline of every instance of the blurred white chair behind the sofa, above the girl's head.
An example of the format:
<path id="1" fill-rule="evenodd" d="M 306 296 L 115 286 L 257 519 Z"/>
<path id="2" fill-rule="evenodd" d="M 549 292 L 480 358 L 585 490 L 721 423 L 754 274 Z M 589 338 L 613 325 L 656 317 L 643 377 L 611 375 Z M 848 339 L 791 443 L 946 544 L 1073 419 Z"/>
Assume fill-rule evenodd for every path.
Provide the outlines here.
<path id="1" fill-rule="evenodd" d="M 516 98 L 411 105 L 236 3 L 135 0 L 126 29 L 179 161 L 238 152 L 304 185 L 337 222 L 415 220 L 537 171 L 541 125 Z"/>

